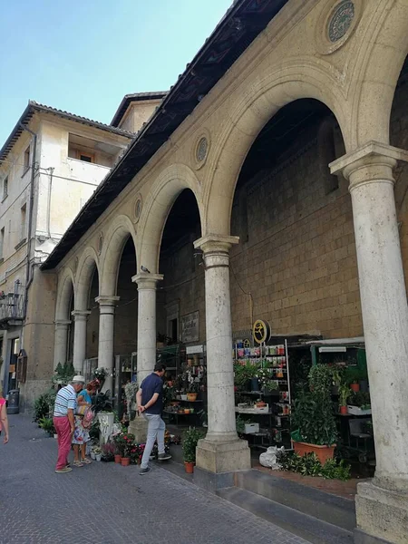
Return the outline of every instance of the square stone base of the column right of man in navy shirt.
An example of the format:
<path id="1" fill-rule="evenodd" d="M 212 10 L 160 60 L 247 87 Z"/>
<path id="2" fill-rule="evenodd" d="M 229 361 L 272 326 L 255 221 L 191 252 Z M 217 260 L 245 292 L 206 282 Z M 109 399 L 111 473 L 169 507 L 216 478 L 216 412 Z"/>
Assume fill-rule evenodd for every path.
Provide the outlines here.
<path id="1" fill-rule="evenodd" d="M 198 469 L 215 474 L 248 471 L 251 468 L 248 442 L 239 439 L 230 442 L 210 442 L 205 438 L 199 440 L 196 464 Z"/>

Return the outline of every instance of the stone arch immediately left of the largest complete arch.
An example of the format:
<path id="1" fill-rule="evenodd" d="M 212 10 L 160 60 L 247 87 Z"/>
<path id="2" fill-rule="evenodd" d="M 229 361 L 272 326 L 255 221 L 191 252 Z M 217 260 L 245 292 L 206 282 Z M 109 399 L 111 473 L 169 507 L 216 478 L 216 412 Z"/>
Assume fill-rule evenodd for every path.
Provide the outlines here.
<path id="1" fill-rule="evenodd" d="M 152 273 L 159 269 L 160 242 L 170 209 L 180 192 L 190 189 L 199 207 L 203 224 L 201 188 L 199 180 L 185 164 L 173 164 L 155 180 L 141 212 L 140 261 Z"/>

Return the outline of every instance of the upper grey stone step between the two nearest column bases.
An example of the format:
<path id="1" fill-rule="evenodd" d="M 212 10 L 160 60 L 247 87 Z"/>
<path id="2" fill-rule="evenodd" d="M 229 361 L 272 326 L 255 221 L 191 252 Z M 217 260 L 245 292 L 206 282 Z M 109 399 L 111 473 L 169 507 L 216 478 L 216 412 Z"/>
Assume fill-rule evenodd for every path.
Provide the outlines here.
<path id="1" fill-rule="evenodd" d="M 347 531 L 355 529 L 354 500 L 337 497 L 295 481 L 288 481 L 273 473 L 257 470 L 236 472 L 234 483 L 242 490 L 251 491 L 317 520 Z"/>

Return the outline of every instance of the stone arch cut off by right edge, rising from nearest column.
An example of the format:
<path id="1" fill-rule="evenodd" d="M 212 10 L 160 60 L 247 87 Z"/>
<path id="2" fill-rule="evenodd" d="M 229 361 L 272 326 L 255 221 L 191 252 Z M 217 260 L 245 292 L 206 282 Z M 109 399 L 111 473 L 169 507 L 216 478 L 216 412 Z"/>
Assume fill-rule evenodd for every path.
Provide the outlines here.
<path id="1" fill-rule="evenodd" d="M 389 143 L 393 95 L 408 55 L 408 0 L 381 3 L 376 12 L 367 33 L 372 38 L 362 44 L 369 51 L 359 53 L 355 71 L 359 74 L 351 118 L 353 149 L 367 141 Z"/>

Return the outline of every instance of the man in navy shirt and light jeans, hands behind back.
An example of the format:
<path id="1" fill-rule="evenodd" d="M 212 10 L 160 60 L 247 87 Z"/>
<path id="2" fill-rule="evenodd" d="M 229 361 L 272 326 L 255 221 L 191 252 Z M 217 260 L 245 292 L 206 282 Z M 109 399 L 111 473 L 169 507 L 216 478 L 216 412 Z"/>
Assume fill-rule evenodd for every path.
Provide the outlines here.
<path id="1" fill-rule="evenodd" d="M 163 381 L 161 378 L 165 372 L 165 364 L 156 364 L 154 372 L 147 376 L 147 378 L 144 378 L 138 393 L 136 393 L 138 411 L 143 414 L 149 423 L 146 447 L 141 458 L 141 474 L 147 474 L 151 471 L 149 458 L 156 438 L 159 446 L 159 461 L 171 459 L 171 455 L 164 451 L 166 424 L 161 419 L 161 411 L 163 409 Z"/>

